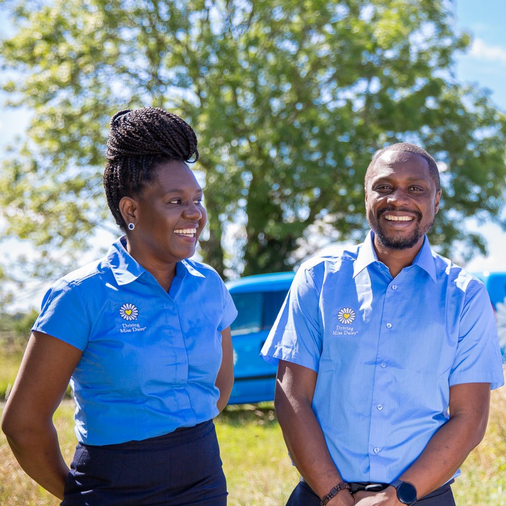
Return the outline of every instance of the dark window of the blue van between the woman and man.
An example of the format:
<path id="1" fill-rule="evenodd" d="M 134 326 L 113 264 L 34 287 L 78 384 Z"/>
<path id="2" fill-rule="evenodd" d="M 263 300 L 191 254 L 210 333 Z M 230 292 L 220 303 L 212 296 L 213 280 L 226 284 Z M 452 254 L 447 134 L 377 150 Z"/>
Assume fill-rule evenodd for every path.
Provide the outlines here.
<path id="1" fill-rule="evenodd" d="M 232 335 L 269 330 L 283 305 L 287 290 L 232 293 L 237 318 L 230 326 Z"/>

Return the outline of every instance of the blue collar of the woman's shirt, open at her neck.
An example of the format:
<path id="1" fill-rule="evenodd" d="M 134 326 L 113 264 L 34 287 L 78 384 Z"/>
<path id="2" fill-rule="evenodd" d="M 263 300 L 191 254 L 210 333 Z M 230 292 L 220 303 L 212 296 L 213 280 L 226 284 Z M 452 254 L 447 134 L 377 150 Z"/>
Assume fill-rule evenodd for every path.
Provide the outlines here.
<path id="1" fill-rule="evenodd" d="M 118 285 L 132 283 L 143 273 L 148 272 L 126 251 L 126 236 L 119 237 L 111 244 L 107 252 L 109 266 Z M 176 277 L 183 280 L 187 274 L 205 277 L 201 272 L 191 266 L 186 260 L 176 264 Z"/>

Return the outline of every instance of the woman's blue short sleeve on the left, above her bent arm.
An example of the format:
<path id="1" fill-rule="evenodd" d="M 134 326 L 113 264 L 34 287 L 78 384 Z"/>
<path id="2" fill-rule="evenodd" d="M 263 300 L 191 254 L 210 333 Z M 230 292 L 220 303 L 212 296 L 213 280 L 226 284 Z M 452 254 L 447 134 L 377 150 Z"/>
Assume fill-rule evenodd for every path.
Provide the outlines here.
<path id="1" fill-rule="evenodd" d="M 80 285 L 63 279 L 57 281 L 44 296 L 33 330 L 52 335 L 83 351 L 88 344 L 90 319 Z"/>

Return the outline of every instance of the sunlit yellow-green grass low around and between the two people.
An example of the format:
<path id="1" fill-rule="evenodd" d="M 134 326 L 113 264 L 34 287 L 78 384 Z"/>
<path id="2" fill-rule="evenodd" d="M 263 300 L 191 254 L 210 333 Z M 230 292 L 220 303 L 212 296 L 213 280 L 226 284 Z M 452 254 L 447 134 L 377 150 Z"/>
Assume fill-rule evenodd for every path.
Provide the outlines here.
<path id="1" fill-rule="evenodd" d="M 55 413 L 63 456 L 72 459 L 73 405 L 64 401 Z M 458 506 L 506 504 L 506 388 L 492 392 L 487 434 L 462 466 L 453 490 Z M 286 453 L 272 404 L 229 407 L 217 419 L 230 506 L 282 506 L 298 475 Z M 0 433 L 0 504 L 57 506 L 59 501 L 21 471 Z"/>

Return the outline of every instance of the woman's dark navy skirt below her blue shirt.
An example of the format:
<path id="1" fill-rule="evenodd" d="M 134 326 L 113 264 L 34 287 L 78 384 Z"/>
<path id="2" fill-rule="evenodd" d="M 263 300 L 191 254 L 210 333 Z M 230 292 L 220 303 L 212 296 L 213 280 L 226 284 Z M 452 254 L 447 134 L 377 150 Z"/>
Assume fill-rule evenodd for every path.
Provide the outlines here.
<path id="1" fill-rule="evenodd" d="M 212 420 L 163 436 L 78 443 L 61 506 L 225 506 L 227 484 Z"/>

